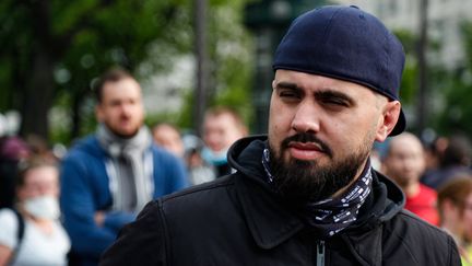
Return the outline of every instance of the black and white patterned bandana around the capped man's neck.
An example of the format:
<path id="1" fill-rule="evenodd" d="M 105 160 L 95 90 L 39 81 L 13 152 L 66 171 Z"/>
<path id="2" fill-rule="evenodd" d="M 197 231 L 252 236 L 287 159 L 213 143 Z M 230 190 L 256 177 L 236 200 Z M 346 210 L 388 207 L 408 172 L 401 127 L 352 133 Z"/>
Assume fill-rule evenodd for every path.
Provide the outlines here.
<path id="1" fill-rule="evenodd" d="M 267 182 L 272 184 L 276 177 L 270 172 L 269 160 L 270 151 L 266 148 L 262 152 L 262 165 L 266 170 Z M 306 222 L 320 233 L 321 239 L 328 239 L 346 229 L 357 220 L 358 211 L 371 192 L 371 166 L 367 161 L 361 177 L 341 196 L 308 203 L 304 217 Z"/>

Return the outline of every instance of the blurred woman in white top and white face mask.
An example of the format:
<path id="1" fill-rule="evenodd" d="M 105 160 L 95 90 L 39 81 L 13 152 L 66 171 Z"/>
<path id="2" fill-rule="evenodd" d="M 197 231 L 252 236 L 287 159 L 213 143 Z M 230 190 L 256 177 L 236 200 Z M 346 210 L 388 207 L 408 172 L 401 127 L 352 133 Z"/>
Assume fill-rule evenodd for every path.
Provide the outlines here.
<path id="1" fill-rule="evenodd" d="M 16 210 L 0 210 L 0 266 L 67 265 L 69 238 L 59 223 L 59 172 L 56 165 L 34 158 L 20 164 Z"/>

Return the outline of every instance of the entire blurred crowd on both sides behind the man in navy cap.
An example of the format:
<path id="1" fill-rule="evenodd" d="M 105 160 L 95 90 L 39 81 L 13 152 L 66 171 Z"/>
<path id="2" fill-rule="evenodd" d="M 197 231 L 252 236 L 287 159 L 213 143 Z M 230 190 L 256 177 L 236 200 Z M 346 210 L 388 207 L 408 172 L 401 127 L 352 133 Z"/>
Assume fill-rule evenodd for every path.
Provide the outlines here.
<path id="1" fill-rule="evenodd" d="M 38 138 L 0 138 L 0 266 L 97 265 L 148 201 L 234 172 L 227 152 L 248 129 L 231 107 L 209 109 L 200 138 L 170 122 L 148 128 L 141 88 L 121 69 L 106 72 L 95 93 L 98 127 L 64 157 Z M 405 209 L 453 236 L 464 265 L 472 265 L 471 157 L 467 136 L 425 143 L 403 132 L 370 159 L 401 187 Z"/>

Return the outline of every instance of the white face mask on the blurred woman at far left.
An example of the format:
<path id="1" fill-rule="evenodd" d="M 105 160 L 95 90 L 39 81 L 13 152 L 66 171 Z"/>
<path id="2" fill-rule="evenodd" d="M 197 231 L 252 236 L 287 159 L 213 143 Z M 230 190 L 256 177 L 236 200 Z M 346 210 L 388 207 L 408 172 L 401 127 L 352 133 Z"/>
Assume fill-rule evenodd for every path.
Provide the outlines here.
<path id="1" fill-rule="evenodd" d="M 24 208 L 39 219 L 56 220 L 60 216 L 59 201 L 50 195 L 28 198 L 24 201 Z"/>

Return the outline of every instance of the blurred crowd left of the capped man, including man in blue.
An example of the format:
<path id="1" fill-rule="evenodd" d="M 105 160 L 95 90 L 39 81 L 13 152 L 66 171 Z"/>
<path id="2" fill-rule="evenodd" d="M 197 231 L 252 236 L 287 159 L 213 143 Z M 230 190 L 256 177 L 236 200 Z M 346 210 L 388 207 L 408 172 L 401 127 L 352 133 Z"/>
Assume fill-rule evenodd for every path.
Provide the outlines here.
<path id="1" fill-rule="evenodd" d="M 146 203 L 234 171 L 226 153 L 247 135 L 234 109 L 209 109 L 200 138 L 144 125 L 141 86 L 122 69 L 94 92 L 97 129 L 66 154 L 39 138 L 1 137 L 0 266 L 97 265 Z"/>

